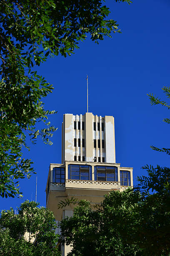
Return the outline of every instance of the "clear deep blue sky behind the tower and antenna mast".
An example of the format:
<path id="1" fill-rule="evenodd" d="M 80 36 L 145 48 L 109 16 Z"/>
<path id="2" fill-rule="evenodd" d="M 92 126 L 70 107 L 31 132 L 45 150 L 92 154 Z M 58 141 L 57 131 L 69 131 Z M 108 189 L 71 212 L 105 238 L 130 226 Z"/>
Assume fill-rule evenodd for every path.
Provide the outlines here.
<path id="1" fill-rule="evenodd" d="M 58 127 L 47 146 L 38 140 L 25 158 L 31 158 L 37 172 L 37 201 L 45 206 L 45 187 L 50 163 L 61 163 L 61 124 L 65 113 L 84 114 L 86 75 L 90 77 L 89 112 L 115 117 L 116 162 L 133 167 L 133 180 L 145 174 L 141 166 L 169 166 L 170 156 L 150 149 L 150 145 L 170 147 L 169 125 L 163 118 L 170 111 L 151 106 L 147 93 L 165 98 L 161 88 L 170 86 L 170 1 L 134 0 L 132 4 L 106 0 L 110 18 L 117 20 L 122 34 L 105 38 L 99 45 L 87 40 L 71 57 L 48 59 L 38 68 L 55 90 L 44 102 L 57 110 L 50 118 Z M 20 180 L 23 199 L 0 199 L 0 210 L 35 199 L 34 174 Z"/>

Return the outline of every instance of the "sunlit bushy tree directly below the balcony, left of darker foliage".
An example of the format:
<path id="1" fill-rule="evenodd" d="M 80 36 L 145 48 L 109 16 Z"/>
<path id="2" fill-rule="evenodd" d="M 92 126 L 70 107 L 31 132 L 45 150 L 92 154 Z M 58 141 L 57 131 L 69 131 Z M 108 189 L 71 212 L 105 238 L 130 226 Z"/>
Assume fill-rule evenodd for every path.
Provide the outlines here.
<path id="1" fill-rule="evenodd" d="M 145 255 L 135 243 L 124 239 L 124 220 L 134 218 L 133 208 L 140 201 L 140 194 L 132 189 L 111 191 L 100 206 L 81 200 L 73 217 L 60 222 L 61 240 L 71 244 L 69 256 L 133 256 Z"/>

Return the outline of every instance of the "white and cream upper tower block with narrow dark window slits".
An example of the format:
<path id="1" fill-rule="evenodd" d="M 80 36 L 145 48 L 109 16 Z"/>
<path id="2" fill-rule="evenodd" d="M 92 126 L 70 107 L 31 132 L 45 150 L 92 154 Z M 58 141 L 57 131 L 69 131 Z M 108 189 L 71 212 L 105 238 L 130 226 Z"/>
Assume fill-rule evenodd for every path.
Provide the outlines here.
<path id="1" fill-rule="evenodd" d="M 112 116 L 65 114 L 62 123 L 62 163 L 115 163 L 115 125 Z"/>

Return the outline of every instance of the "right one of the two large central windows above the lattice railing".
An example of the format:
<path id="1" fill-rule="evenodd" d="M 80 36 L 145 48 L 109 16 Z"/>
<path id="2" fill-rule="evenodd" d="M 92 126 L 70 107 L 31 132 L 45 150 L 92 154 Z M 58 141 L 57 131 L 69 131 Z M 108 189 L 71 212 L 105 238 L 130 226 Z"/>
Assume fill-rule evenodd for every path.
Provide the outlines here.
<path id="1" fill-rule="evenodd" d="M 95 166 L 95 180 L 99 181 L 118 181 L 116 166 Z"/>

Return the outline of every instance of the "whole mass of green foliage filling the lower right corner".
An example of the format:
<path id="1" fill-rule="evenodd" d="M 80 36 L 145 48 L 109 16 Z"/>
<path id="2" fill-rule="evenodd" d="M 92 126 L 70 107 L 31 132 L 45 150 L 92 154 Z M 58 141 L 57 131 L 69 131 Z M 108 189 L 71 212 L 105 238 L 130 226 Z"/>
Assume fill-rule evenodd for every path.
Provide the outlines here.
<path id="1" fill-rule="evenodd" d="M 62 243 L 73 246 L 69 256 L 170 255 L 170 198 L 111 191 L 100 207 L 78 202 L 60 228 Z"/>

